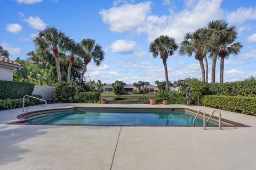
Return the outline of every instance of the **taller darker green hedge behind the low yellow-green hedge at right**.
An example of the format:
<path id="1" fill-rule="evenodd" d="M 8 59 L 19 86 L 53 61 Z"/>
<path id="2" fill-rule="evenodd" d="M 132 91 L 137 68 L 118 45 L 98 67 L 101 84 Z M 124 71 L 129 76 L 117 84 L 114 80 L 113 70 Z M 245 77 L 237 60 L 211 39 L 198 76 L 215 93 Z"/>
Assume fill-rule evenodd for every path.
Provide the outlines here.
<path id="1" fill-rule="evenodd" d="M 206 95 L 256 96 L 256 80 L 209 83 Z"/>

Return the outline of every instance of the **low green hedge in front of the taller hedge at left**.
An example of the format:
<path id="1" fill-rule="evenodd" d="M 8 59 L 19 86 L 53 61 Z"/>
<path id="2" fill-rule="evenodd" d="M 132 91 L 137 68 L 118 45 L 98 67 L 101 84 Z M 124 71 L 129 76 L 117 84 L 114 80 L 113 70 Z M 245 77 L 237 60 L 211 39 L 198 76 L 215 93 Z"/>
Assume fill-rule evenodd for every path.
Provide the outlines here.
<path id="1" fill-rule="evenodd" d="M 41 95 L 33 95 L 37 98 L 42 98 Z M 19 99 L 0 99 L 0 110 L 19 108 L 23 106 L 23 98 Z M 25 98 L 25 106 L 33 106 L 39 104 L 39 100 L 34 98 Z"/>

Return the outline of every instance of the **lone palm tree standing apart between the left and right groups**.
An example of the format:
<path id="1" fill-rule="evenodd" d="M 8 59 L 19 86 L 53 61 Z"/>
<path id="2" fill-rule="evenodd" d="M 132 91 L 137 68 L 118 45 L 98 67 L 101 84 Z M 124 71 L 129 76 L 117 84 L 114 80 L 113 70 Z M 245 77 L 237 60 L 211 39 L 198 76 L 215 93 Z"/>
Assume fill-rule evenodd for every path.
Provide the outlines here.
<path id="1" fill-rule="evenodd" d="M 160 55 L 164 64 L 165 72 L 165 81 L 166 81 L 166 90 L 169 90 L 169 79 L 167 71 L 167 58 L 174 54 L 174 51 L 178 48 L 178 45 L 175 43 L 175 39 L 169 36 L 160 36 L 150 44 L 149 52 L 156 58 Z"/>

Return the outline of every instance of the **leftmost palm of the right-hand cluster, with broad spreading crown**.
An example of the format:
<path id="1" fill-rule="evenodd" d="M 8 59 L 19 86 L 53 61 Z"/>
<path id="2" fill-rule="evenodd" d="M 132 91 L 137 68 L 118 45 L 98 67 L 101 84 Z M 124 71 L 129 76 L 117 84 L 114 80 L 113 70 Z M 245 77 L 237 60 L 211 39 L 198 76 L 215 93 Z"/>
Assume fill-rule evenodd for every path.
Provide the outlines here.
<path id="1" fill-rule="evenodd" d="M 210 40 L 206 36 L 206 29 L 197 29 L 195 32 L 188 32 L 185 34 L 183 41 L 181 42 L 180 55 L 192 56 L 195 53 L 196 60 L 199 61 L 202 81 L 205 82 L 205 69 L 204 69 L 204 58 L 206 53 L 210 51 L 211 44 Z"/>

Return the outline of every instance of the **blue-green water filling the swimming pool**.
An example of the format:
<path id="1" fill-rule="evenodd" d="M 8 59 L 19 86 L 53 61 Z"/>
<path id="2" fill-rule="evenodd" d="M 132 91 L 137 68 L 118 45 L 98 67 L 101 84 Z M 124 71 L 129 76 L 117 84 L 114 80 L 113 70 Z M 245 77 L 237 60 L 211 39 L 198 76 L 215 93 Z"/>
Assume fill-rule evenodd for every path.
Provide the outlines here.
<path id="1" fill-rule="evenodd" d="M 101 125 L 193 125 L 194 115 L 181 111 L 97 111 L 53 112 L 26 117 L 34 124 L 101 124 Z M 198 117 L 195 125 L 203 125 Z M 209 125 L 218 125 L 209 122 Z"/>

